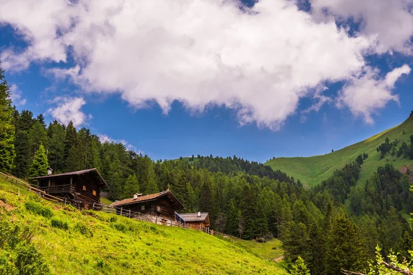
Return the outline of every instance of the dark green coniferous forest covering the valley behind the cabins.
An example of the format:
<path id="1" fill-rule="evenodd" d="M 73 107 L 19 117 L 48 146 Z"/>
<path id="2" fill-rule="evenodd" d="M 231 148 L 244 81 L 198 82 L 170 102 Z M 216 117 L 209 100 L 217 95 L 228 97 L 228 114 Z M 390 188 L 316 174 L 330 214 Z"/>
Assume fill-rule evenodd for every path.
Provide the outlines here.
<path id="1" fill-rule="evenodd" d="M 377 148 L 377 156 L 361 154 L 307 190 L 293 175 L 237 156 L 152 160 L 121 143 L 101 142 L 73 123 L 47 125 L 42 114 L 13 107 L 3 71 L 0 82 L 1 171 L 30 181 L 46 174 L 48 166 L 54 173 L 96 167 L 112 201 L 170 187 L 184 212 L 209 212 L 214 230 L 248 240 L 279 238 L 286 263 L 304 261 L 310 274 L 366 269 L 377 245 L 382 255 L 393 251 L 412 260 L 413 232 L 405 214 L 413 212 L 413 193 L 407 175 L 388 164 L 356 186 L 363 161 L 383 158 L 396 146 L 392 143 Z M 412 158 L 413 135 L 395 154 Z"/>

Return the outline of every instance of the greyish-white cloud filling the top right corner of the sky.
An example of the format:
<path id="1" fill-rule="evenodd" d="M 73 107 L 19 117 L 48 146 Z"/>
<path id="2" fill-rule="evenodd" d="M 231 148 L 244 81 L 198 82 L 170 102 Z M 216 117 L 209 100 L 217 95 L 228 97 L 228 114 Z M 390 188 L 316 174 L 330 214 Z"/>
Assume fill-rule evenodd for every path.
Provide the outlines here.
<path id="1" fill-rule="evenodd" d="M 354 19 L 361 33 L 375 35 L 377 50 L 396 50 L 413 54 L 412 0 L 310 0 L 315 17 Z M 328 10 L 326 14 L 326 9 Z"/>

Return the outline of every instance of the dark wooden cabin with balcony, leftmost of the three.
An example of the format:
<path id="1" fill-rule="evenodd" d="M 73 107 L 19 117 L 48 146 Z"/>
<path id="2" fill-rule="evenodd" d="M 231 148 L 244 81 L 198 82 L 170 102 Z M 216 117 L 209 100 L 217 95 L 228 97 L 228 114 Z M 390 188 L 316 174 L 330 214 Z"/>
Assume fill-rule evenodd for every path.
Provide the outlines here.
<path id="1" fill-rule="evenodd" d="M 99 203 L 101 190 L 108 188 L 96 168 L 63 174 L 52 174 L 50 169 L 47 176 L 33 179 L 37 181 L 39 190 L 85 209 L 91 209 L 94 203 Z"/>

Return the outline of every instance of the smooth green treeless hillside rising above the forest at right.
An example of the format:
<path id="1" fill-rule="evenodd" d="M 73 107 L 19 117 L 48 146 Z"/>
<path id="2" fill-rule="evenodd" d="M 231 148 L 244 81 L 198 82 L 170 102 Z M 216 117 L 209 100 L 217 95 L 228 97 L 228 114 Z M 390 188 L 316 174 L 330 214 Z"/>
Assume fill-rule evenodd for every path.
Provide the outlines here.
<path id="1" fill-rule="evenodd" d="M 361 168 L 360 182 L 364 183 L 372 172 L 377 170 L 378 166 L 385 165 L 387 162 L 392 163 L 396 168 L 401 168 L 403 165 L 409 166 L 413 163 L 410 159 L 400 159 L 390 154 L 384 159 L 380 159 L 380 152 L 377 152 L 377 147 L 379 147 L 381 143 L 384 143 L 386 138 L 389 138 L 390 142 L 395 139 L 399 140 L 399 147 L 403 141 L 407 142 L 410 139 L 411 134 L 413 134 L 412 117 L 401 123 L 401 125 L 372 136 L 370 139 L 355 143 L 330 154 L 310 157 L 277 158 L 265 164 L 271 166 L 273 170 L 281 170 L 289 176 L 294 176 L 294 178 L 299 179 L 304 186 L 310 187 L 328 179 L 328 177 L 332 175 L 332 172 L 340 169 L 346 165 L 346 163 L 354 161 L 359 154 L 367 153 L 369 157 L 364 161 Z"/>

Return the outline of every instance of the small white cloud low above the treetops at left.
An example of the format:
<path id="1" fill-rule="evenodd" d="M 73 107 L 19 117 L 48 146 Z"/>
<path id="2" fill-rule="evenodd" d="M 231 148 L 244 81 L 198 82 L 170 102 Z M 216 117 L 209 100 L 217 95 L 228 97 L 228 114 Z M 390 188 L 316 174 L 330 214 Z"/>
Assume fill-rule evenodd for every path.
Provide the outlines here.
<path id="1" fill-rule="evenodd" d="M 82 97 L 57 97 L 51 103 L 56 103 L 56 108 L 47 110 L 47 114 L 51 114 L 54 119 L 67 125 L 70 121 L 75 127 L 85 124 L 87 119 L 92 118 L 91 115 L 86 115 L 81 108 L 86 104 Z"/>

